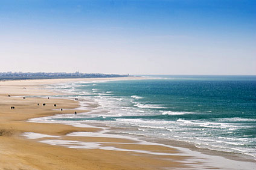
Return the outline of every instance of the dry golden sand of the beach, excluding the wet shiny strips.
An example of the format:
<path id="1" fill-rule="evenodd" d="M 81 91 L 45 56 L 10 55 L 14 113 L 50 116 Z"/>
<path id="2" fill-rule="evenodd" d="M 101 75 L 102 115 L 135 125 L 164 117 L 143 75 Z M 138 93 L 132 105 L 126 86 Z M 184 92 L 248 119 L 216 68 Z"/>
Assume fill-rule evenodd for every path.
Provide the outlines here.
<path id="1" fill-rule="evenodd" d="M 72 79 L 74 80 L 74 79 Z M 85 80 L 85 79 L 82 79 Z M 89 79 L 92 80 L 92 79 Z M 45 135 L 65 137 L 69 132 L 97 132 L 99 129 L 74 127 L 63 124 L 29 123 L 30 118 L 45 117 L 61 114 L 53 111 L 54 103 L 57 107 L 65 109 L 64 114 L 78 108 L 78 102 L 65 99 L 42 99 L 13 96 L 47 96 L 54 95 L 45 90 L 39 90 L 39 85 L 67 82 L 69 80 L 16 80 L 1 82 L 1 160 L 0 169 L 156 169 L 161 166 L 181 167 L 182 163 L 167 160 L 158 160 L 152 156 L 134 156 L 123 151 L 85 150 L 58 147 L 42 144 L 36 139 L 27 139 L 22 136 L 24 132 L 40 133 Z M 24 87 L 26 89 L 24 89 Z M 35 89 L 36 88 L 36 89 Z M 10 95 L 11 97 L 8 97 Z M 46 106 L 37 107 L 37 103 L 46 103 Z M 14 105 L 15 109 L 10 110 Z M 85 112 L 85 111 L 77 111 Z M 44 138 L 49 139 L 49 138 Z M 51 138 L 50 138 L 51 139 Z M 72 138 L 78 139 L 78 138 Z M 94 138 L 83 139 L 93 141 Z M 107 139 L 102 139 L 107 141 Z M 127 140 L 111 139 L 115 142 L 128 142 Z M 118 153 L 118 154 L 117 154 Z M 163 156 L 165 157 L 165 156 Z M 139 159 L 138 159 L 139 158 Z M 182 157 L 173 157 L 182 160 Z"/>

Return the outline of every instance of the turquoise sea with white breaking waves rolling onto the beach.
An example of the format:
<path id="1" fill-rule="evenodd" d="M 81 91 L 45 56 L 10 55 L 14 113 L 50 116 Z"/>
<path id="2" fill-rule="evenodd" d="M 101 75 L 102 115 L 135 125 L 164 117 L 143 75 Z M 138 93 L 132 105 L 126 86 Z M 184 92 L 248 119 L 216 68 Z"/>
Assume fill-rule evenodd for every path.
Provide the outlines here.
<path id="1" fill-rule="evenodd" d="M 151 76 L 74 82 L 54 90 L 95 112 L 61 121 L 104 123 L 122 135 L 189 142 L 256 159 L 256 76 Z M 125 127 L 125 128 L 124 128 Z"/>

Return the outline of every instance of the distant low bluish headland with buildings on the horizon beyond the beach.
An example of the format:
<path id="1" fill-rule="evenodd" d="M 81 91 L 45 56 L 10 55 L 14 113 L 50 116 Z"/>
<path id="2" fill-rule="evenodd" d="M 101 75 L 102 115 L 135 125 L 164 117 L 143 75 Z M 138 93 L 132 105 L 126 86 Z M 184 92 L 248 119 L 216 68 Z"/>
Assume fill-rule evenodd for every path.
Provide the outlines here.
<path id="1" fill-rule="evenodd" d="M 2 72 L 0 80 L 21 80 L 21 79 L 70 79 L 70 78 L 98 78 L 98 77 L 128 77 L 129 74 L 103 74 L 103 73 L 23 73 L 23 72 Z"/>

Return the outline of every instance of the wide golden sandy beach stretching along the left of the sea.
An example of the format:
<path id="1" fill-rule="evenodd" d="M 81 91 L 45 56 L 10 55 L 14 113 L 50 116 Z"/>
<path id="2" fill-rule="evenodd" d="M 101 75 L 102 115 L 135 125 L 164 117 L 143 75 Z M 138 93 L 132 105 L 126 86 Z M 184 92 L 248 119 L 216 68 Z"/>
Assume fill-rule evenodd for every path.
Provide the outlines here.
<path id="1" fill-rule="evenodd" d="M 127 78 L 127 77 L 126 77 Z M 132 77 L 142 79 L 142 77 Z M 43 85 L 82 81 L 82 80 L 120 80 L 120 77 L 109 79 L 45 79 L 45 80 L 14 80 L 0 82 L 1 96 L 1 147 L 0 168 L 24 168 L 24 169 L 160 169 L 160 168 L 218 168 L 213 165 L 204 165 L 200 157 L 192 157 L 187 150 L 178 150 L 173 147 L 159 145 L 136 144 L 136 140 L 120 138 L 101 138 L 85 136 L 66 136 L 71 132 L 95 132 L 101 131 L 97 127 L 75 127 L 65 124 L 31 123 L 28 119 L 53 116 L 56 114 L 72 114 L 78 108 L 78 102 L 67 99 L 47 99 L 12 96 L 53 96 L 58 93 L 46 91 Z M 24 89 L 25 87 L 25 89 Z M 41 89 L 39 89 L 41 88 Z M 8 92 L 8 93 L 7 93 Z M 11 97 L 8 97 L 10 95 Z M 37 103 L 46 103 L 46 106 L 37 107 Z M 57 108 L 54 104 L 57 103 Z M 10 110 L 10 106 L 17 106 Z M 60 109 L 63 108 L 63 112 Z M 77 113 L 86 110 L 75 110 Z M 28 139 L 22 136 L 24 133 L 40 133 L 47 136 L 43 139 L 57 139 L 82 142 L 109 142 L 119 144 L 104 144 L 104 147 L 123 148 L 123 151 L 67 148 L 56 145 L 44 144 L 41 138 Z M 137 141 L 138 142 L 138 141 Z M 82 143 L 79 143 L 79 145 Z M 77 144 L 78 145 L 78 144 Z M 126 150 L 126 151 L 125 151 Z M 135 153 L 129 150 L 144 150 L 152 153 L 168 153 L 166 155 Z M 190 156 L 189 156 L 190 155 Z M 51 159 L 50 157 L 51 156 Z M 191 161 L 193 160 L 193 162 Z M 8 163 L 7 163 L 8 162 Z M 191 163 L 192 162 L 192 163 Z M 47 165 L 50 164 L 50 165 Z"/>

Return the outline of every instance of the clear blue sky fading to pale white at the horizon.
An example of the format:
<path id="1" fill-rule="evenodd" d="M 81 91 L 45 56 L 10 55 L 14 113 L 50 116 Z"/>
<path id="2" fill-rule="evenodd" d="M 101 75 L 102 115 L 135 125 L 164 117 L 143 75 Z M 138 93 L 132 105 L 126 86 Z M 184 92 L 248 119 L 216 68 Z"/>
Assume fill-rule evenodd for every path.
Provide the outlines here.
<path id="1" fill-rule="evenodd" d="M 0 0 L 0 72 L 256 74 L 256 1 Z"/>

